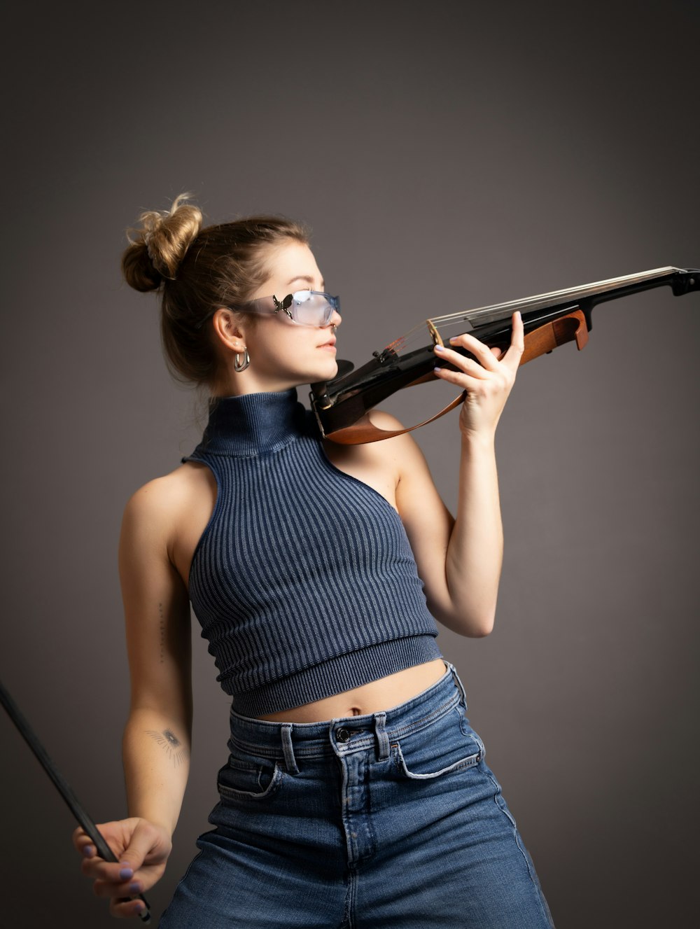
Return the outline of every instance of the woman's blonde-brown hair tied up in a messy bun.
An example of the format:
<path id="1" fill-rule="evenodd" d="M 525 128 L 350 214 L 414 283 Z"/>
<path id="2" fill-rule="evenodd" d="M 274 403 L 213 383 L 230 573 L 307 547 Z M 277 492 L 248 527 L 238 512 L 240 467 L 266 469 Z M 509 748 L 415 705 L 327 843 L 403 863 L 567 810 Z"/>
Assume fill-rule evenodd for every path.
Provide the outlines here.
<path id="1" fill-rule="evenodd" d="M 214 386 L 219 357 L 210 327 L 219 307 L 244 304 L 269 277 L 270 249 L 308 244 L 305 227 L 283 216 L 249 216 L 202 228 L 201 211 L 181 193 L 170 210 L 138 217 L 122 256 L 126 282 L 161 294 L 165 360 L 176 380 Z M 250 319 L 248 320 L 250 325 Z"/>

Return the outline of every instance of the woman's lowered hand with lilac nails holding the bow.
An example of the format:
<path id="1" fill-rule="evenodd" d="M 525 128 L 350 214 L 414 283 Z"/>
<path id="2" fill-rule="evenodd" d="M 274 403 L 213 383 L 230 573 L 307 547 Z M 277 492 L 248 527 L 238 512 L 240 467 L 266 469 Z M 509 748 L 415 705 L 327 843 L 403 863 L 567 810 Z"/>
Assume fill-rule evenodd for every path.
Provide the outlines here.
<path id="1" fill-rule="evenodd" d="M 112 916 L 138 916 L 143 912 L 143 901 L 130 897 L 143 894 L 162 878 L 173 848 L 170 833 L 137 817 L 103 823 L 97 828 L 118 863 L 99 857 L 90 837 L 76 829 L 73 844 L 83 857 L 83 873 L 94 882 L 97 896 L 110 898 Z"/>

